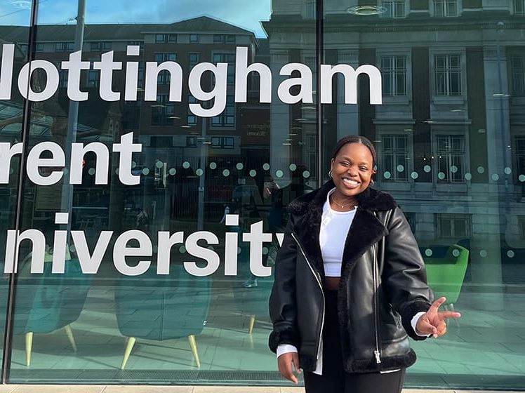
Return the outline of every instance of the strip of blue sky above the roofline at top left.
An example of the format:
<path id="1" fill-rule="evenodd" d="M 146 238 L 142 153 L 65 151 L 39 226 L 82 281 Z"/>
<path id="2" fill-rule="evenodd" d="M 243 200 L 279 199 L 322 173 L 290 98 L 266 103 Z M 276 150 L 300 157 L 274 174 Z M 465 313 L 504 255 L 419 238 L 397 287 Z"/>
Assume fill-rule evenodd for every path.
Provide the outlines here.
<path id="1" fill-rule="evenodd" d="M 29 25 L 30 0 L 0 0 L 0 25 Z M 74 23 L 77 1 L 40 0 L 39 23 Z M 271 0 L 86 0 L 88 23 L 169 23 L 208 15 L 265 36 Z M 0 37 L 1 38 L 1 37 Z"/>

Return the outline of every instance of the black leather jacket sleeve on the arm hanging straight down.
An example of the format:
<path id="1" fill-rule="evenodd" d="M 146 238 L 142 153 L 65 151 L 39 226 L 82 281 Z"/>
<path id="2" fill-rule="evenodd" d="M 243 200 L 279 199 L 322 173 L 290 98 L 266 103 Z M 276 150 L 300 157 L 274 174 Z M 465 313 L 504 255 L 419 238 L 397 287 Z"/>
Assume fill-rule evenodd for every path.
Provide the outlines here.
<path id="1" fill-rule="evenodd" d="M 300 339 L 297 329 L 295 305 L 295 260 L 297 244 L 291 237 L 293 215 L 288 220 L 284 240 L 277 252 L 274 269 L 274 285 L 270 294 L 270 319 L 273 331 L 269 345 L 277 352 L 280 344 L 290 344 L 298 348 Z"/>

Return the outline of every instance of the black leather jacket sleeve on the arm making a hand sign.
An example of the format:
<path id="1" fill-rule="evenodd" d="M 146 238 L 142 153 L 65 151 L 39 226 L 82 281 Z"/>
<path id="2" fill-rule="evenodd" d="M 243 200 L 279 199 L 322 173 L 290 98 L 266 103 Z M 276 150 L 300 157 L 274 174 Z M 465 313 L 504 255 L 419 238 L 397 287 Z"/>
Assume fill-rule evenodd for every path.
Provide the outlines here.
<path id="1" fill-rule="evenodd" d="M 425 340 L 427 337 L 417 335 L 411 326 L 413 316 L 426 312 L 434 300 L 427 286 L 425 262 L 401 209 L 392 211 L 387 229 L 383 283 L 406 333 L 414 340 Z"/>

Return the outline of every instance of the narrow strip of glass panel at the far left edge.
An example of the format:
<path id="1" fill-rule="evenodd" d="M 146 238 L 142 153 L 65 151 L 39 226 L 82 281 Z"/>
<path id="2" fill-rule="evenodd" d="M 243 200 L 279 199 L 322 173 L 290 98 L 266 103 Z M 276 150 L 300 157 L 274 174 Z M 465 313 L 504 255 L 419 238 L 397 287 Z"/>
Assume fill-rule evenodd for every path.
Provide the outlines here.
<path id="1" fill-rule="evenodd" d="M 27 82 L 18 82 L 18 75 L 26 64 L 29 56 L 29 25 L 31 20 L 31 4 L 29 1 L 6 1 L 1 6 L 0 15 L 0 255 L 1 271 L 6 266 L 5 251 L 8 244 L 8 233 L 16 228 L 16 211 L 18 205 L 20 178 L 20 148 L 22 145 L 22 121 L 24 119 L 25 103 L 22 94 L 27 92 Z M 54 46 L 53 46 L 54 48 Z M 41 46 L 34 46 L 34 51 Z M 51 47 L 50 47 L 51 50 Z M 4 68 L 5 66 L 5 68 Z M 11 74 L 11 78 L 8 78 Z M 36 75 L 36 74 L 35 74 Z M 9 85 L 10 84 L 10 85 Z M 30 132 L 48 133 L 49 119 L 42 107 L 33 107 L 30 116 L 40 119 Z M 27 127 L 27 124 L 26 124 Z M 32 199 L 29 192 L 24 199 Z M 3 273 L 4 274 L 4 273 Z M 14 277 L 16 280 L 16 276 Z M 8 305 L 9 274 L 4 274 L 0 280 L 0 332 L 4 337 L 6 329 L 6 311 Z M 23 290 L 23 286 L 22 286 Z M 15 337 L 20 334 L 15 326 Z M 0 340 L 0 361 L 4 357 L 4 340 Z M 0 369 L 3 374 L 3 369 Z M 1 377 L 0 377 L 1 378 Z M 2 381 L 5 382 L 5 381 Z"/>

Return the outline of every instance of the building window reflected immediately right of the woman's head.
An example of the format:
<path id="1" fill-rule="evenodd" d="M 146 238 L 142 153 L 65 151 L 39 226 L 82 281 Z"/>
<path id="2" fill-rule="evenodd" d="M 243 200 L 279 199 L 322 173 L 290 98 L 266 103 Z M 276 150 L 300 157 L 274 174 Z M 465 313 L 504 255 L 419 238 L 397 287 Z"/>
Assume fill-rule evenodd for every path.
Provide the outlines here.
<path id="1" fill-rule="evenodd" d="M 406 135 L 383 135 L 381 138 L 381 166 L 386 181 L 408 181 L 408 142 Z M 390 175 L 389 175 L 390 173 Z"/>

